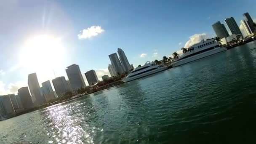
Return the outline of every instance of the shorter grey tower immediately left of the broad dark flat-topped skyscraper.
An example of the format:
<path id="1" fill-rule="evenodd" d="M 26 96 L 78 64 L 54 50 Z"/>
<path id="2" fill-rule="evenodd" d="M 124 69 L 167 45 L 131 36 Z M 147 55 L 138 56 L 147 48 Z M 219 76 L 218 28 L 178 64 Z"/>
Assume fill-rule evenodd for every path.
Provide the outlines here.
<path id="1" fill-rule="evenodd" d="M 56 77 L 52 80 L 53 87 L 57 93 L 58 96 L 63 96 L 65 93 L 69 91 L 67 81 L 65 77 Z"/>

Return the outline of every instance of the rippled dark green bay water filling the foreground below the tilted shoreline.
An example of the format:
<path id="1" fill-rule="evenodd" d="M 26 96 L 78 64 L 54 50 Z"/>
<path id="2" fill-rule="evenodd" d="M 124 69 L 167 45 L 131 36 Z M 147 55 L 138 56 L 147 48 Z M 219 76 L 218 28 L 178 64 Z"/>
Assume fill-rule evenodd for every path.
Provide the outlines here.
<path id="1" fill-rule="evenodd" d="M 256 42 L 0 122 L 0 144 L 253 144 Z"/>

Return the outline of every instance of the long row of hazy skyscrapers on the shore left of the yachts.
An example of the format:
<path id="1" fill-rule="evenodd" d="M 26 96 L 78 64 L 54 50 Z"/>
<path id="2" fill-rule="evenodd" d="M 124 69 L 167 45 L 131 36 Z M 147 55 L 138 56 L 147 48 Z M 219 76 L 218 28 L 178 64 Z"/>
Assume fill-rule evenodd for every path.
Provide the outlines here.
<path id="1" fill-rule="evenodd" d="M 133 65 L 129 63 L 121 48 L 117 49 L 117 53 L 109 55 L 111 64 L 109 64 L 108 70 L 112 77 L 124 72 L 129 73 L 131 69 L 133 69 Z M 83 75 L 77 64 L 68 66 L 66 73 L 68 80 L 66 80 L 64 76 L 56 77 L 52 80 L 55 91 L 53 91 L 50 80 L 43 82 L 42 87 L 40 87 L 37 74 L 29 74 L 28 87 L 19 88 L 17 95 L 9 94 L 0 96 L 0 120 L 3 117 L 11 117 L 26 109 L 31 109 L 45 104 L 52 99 L 63 96 L 69 91 L 76 91 L 79 88 L 86 87 Z M 99 82 L 96 72 L 93 69 L 85 72 L 85 77 L 90 86 Z M 101 78 L 102 80 L 106 80 L 109 76 L 103 75 Z"/>

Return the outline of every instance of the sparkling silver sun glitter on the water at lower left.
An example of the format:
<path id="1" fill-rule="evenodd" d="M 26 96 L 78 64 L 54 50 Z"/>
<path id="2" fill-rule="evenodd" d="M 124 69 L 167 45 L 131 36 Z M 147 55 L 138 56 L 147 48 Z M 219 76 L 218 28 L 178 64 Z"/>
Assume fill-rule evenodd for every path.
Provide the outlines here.
<path id="1" fill-rule="evenodd" d="M 74 115 L 74 111 L 77 113 L 76 115 Z M 92 135 L 96 129 L 85 124 L 85 117 L 81 114 L 80 109 L 76 109 L 74 105 L 59 105 L 48 108 L 45 112 L 45 124 L 48 125 L 47 129 L 49 130 L 46 133 L 49 137 L 48 143 L 93 144 Z M 83 128 L 82 124 L 85 125 Z"/>

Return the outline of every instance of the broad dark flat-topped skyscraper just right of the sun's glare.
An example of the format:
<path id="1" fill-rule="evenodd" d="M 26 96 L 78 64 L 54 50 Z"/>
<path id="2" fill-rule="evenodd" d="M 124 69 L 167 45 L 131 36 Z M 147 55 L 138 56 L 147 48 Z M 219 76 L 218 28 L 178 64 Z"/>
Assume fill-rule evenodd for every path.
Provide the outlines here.
<path id="1" fill-rule="evenodd" d="M 72 90 L 76 90 L 78 88 L 86 86 L 80 68 L 77 64 L 72 64 L 67 67 L 66 72 L 67 77 L 69 77 Z"/>

